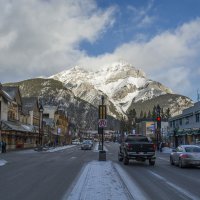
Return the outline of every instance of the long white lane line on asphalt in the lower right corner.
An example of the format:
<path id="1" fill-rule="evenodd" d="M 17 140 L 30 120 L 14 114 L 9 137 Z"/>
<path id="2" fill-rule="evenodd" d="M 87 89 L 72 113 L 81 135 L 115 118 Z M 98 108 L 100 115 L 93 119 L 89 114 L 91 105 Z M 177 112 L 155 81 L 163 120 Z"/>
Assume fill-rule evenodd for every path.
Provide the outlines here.
<path id="1" fill-rule="evenodd" d="M 162 180 L 163 182 L 165 182 L 167 185 L 169 185 L 170 187 L 172 187 L 173 189 L 179 191 L 181 194 L 184 194 L 188 199 L 192 199 L 192 200 L 200 200 L 199 197 L 193 195 L 192 193 L 188 192 L 187 190 L 185 189 L 182 189 L 181 187 L 175 185 L 174 183 L 168 181 L 167 179 L 165 179 L 164 177 L 160 176 L 159 174 L 155 173 L 155 172 L 152 172 L 149 170 L 149 172 L 157 177 L 158 179 Z"/>

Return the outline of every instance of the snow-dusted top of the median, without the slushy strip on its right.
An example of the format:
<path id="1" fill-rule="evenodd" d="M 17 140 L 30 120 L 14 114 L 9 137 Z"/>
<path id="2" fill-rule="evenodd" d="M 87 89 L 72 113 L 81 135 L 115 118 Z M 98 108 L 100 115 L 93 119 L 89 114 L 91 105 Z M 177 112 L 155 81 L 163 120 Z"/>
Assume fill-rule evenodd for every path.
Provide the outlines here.
<path id="1" fill-rule="evenodd" d="M 63 200 L 128 200 L 130 194 L 111 161 L 92 161 L 86 165 L 76 185 Z"/>

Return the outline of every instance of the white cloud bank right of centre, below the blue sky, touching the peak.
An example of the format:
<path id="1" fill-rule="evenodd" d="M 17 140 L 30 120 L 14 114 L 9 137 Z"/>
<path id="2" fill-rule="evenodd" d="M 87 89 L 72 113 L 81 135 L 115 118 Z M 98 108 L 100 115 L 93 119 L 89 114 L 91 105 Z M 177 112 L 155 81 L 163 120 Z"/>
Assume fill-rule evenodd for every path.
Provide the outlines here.
<path id="1" fill-rule="evenodd" d="M 148 41 L 122 44 L 111 54 L 95 58 L 83 57 L 80 63 L 94 68 L 123 58 L 143 69 L 150 78 L 166 84 L 176 92 L 186 94 L 187 89 L 192 90 L 192 63 L 198 60 L 199 53 L 200 19 L 197 18 Z M 164 75 L 158 76 L 159 74 Z"/>

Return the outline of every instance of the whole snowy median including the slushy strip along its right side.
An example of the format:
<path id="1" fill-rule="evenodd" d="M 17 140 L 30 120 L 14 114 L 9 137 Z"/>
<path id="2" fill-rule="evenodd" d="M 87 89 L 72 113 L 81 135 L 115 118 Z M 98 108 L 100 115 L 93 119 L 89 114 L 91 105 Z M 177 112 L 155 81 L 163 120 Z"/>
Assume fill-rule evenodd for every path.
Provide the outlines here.
<path id="1" fill-rule="evenodd" d="M 62 200 L 145 200 L 144 193 L 119 164 L 92 161 Z"/>

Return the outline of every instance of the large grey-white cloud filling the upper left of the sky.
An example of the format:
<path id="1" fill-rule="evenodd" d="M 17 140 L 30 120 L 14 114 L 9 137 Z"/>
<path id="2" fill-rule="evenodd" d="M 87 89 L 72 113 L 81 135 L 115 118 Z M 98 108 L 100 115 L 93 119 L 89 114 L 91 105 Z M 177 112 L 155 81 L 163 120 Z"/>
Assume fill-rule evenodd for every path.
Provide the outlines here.
<path id="1" fill-rule="evenodd" d="M 93 0 L 18 0 L 0 1 L 0 13 L 0 72 L 16 79 L 75 63 L 84 55 L 80 41 L 92 43 L 111 27 L 115 8 L 101 10 Z"/>

